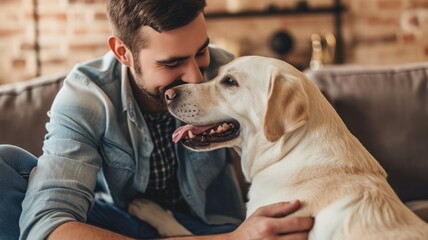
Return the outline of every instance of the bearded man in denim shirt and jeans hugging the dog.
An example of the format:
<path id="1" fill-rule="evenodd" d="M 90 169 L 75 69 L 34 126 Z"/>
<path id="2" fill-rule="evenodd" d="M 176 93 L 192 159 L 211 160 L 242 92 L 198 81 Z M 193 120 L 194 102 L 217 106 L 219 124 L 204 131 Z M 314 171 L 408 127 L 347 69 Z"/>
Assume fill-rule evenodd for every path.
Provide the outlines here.
<path id="1" fill-rule="evenodd" d="M 244 216 L 228 150 L 195 153 L 172 143 L 177 124 L 165 90 L 200 83 L 231 60 L 208 47 L 204 7 L 203 0 L 107 0 L 111 53 L 67 76 L 49 112 L 43 155 L 36 163 L 21 149 L 0 147 L 0 175 L 10 176 L 1 191 L 13 193 L 3 201 L 20 202 L 25 193 L 21 239 L 158 237 L 126 212 L 139 197 L 171 210 L 195 235 L 212 234 L 187 239 L 307 237 L 312 219 L 283 218 L 299 202 L 261 208 L 235 230 Z M 95 200 L 99 186 L 111 199 Z M 0 214 L 16 238 L 20 209 L 6 204 Z"/>

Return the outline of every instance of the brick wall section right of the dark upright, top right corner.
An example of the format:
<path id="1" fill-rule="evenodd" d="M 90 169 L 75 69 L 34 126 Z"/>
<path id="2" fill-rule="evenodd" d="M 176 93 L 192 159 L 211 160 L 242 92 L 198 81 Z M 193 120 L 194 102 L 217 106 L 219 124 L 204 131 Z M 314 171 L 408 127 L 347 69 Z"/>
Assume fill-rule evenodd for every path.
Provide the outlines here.
<path id="1" fill-rule="evenodd" d="M 428 1 L 359 0 L 352 1 L 350 10 L 351 33 L 347 43 L 353 51 L 349 52 L 349 62 L 392 64 L 428 60 L 428 26 L 422 26 L 424 15 L 428 17 Z M 417 10 L 425 14 L 415 19 Z M 415 24 L 414 21 L 419 22 L 418 30 L 404 24 Z"/>

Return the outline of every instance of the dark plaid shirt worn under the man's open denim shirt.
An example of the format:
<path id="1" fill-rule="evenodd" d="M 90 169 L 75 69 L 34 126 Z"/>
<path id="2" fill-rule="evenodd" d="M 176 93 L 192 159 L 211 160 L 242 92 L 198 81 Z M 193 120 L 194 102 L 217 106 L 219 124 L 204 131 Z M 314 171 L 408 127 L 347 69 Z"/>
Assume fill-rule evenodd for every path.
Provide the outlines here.
<path id="1" fill-rule="evenodd" d="M 154 149 L 150 156 L 150 177 L 144 198 L 171 210 L 187 211 L 177 180 L 177 157 L 171 140 L 175 120 L 168 112 L 144 114 Z"/>

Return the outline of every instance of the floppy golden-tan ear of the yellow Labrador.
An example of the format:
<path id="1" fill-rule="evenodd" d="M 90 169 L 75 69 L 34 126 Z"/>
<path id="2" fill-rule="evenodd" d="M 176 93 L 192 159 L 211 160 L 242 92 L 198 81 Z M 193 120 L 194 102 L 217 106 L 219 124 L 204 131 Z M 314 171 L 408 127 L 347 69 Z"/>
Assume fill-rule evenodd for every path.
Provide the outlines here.
<path id="1" fill-rule="evenodd" d="M 263 129 L 266 138 L 274 142 L 308 121 L 309 99 L 297 77 L 274 71 L 270 81 Z"/>

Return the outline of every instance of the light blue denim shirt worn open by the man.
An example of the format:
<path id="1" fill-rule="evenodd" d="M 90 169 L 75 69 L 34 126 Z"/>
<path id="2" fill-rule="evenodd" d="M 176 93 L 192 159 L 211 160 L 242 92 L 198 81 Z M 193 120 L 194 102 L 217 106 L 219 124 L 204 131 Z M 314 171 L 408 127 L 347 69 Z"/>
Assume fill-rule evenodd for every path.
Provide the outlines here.
<path id="1" fill-rule="evenodd" d="M 209 50 L 206 78 L 232 59 L 221 49 Z M 48 114 L 43 155 L 22 204 L 21 239 L 44 239 L 65 222 L 85 222 L 99 172 L 123 209 L 149 180 L 153 142 L 127 68 L 111 52 L 74 67 Z M 239 223 L 244 207 L 228 150 L 196 153 L 181 144 L 175 149 L 180 190 L 192 212 L 211 224 Z"/>

